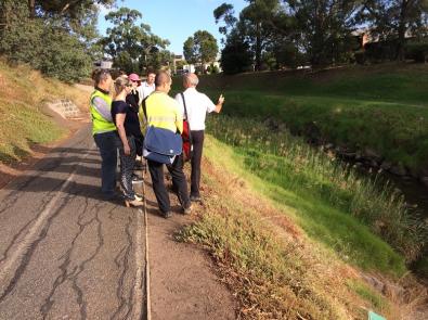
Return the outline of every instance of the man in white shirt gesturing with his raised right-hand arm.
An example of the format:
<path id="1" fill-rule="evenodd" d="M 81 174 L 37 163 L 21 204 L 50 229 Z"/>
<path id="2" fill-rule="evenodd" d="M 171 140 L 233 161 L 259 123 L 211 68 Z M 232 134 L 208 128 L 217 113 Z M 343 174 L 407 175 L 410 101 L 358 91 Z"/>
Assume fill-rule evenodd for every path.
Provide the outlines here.
<path id="1" fill-rule="evenodd" d="M 191 201 L 199 202 L 199 181 L 200 181 L 200 159 L 204 146 L 205 118 L 207 113 L 219 113 L 224 103 L 223 94 L 220 94 L 217 104 L 204 93 L 196 90 L 199 79 L 195 74 L 185 74 L 183 76 L 183 87 L 185 88 L 183 95 L 187 111 L 187 121 L 192 133 L 193 154 L 191 159 Z M 176 95 L 176 100 L 180 103 L 180 107 L 184 114 L 184 102 L 182 95 Z"/>

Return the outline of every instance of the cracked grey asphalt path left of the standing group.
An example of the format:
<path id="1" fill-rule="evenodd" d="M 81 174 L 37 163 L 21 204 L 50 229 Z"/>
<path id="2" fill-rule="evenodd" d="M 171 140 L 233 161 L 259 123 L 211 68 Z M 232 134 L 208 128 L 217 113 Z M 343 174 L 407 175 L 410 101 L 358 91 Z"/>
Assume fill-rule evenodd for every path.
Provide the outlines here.
<path id="1" fill-rule="evenodd" d="M 144 319 L 144 216 L 100 200 L 89 127 L 0 191 L 0 319 Z"/>

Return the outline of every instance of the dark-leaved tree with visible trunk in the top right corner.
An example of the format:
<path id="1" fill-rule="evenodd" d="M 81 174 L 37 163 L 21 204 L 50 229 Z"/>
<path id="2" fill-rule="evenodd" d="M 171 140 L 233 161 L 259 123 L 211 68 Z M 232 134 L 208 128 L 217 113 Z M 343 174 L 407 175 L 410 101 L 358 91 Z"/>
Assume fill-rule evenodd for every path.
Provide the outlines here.
<path id="1" fill-rule="evenodd" d="M 366 0 L 360 20 L 367 22 L 373 37 L 397 41 L 395 57 L 404 60 L 405 36 L 426 34 L 427 0 Z"/>

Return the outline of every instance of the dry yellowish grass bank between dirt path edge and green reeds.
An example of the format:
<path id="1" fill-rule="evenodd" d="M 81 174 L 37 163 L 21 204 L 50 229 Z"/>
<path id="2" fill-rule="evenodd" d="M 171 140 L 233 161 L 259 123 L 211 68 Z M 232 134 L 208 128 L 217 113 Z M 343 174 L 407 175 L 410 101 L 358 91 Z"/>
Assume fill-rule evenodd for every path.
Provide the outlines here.
<path id="1" fill-rule="evenodd" d="M 204 215 L 181 238 L 211 252 L 223 280 L 237 295 L 241 317 L 366 319 L 364 308 L 368 308 L 400 319 L 408 311 L 392 296 L 376 293 L 341 261 L 343 257 L 296 227 L 296 221 L 301 222 L 299 202 L 304 200 L 285 190 L 280 194 L 277 188 L 249 174 L 243 157 L 212 137 L 206 140 L 205 154 Z M 269 201 L 272 194 L 282 204 Z M 373 235 L 351 220 L 349 231 L 365 233 L 369 243 Z M 315 221 L 303 223 L 304 231 L 316 227 Z M 376 245 L 368 244 L 375 252 L 387 247 Z"/>

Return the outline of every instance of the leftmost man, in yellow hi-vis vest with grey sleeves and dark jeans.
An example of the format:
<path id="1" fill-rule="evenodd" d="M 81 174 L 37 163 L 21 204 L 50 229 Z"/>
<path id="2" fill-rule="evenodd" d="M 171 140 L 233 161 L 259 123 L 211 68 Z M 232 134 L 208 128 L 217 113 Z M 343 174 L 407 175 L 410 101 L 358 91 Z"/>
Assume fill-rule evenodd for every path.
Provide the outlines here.
<path id="1" fill-rule="evenodd" d="M 104 200 L 116 196 L 117 145 L 116 126 L 112 119 L 112 98 L 109 88 L 112 76 L 108 71 L 96 69 L 92 74 L 95 90 L 91 94 L 90 112 L 92 117 L 92 135 L 100 149 L 101 191 Z"/>

